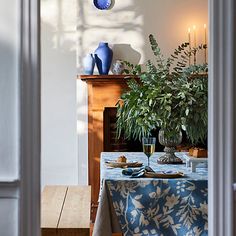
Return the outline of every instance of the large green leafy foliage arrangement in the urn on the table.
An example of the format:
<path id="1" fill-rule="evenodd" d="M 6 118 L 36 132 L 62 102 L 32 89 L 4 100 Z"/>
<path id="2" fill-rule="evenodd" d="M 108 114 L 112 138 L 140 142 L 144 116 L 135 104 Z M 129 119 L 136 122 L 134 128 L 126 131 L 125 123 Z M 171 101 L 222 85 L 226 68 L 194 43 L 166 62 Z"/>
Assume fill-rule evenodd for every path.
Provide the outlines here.
<path id="1" fill-rule="evenodd" d="M 207 65 L 187 66 L 188 43 L 181 44 L 167 59 L 153 37 L 150 45 L 156 62 L 138 70 L 140 81 L 127 79 L 129 89 L 117 103 L 117 134 L 127 139 L 151 136 L 161 128 L 167 136 L 185 130 L 192 144 L 207 135 Z M 199 46 L 198 49 L 201 49 Z M 135 68 L 135 66 L 131 66 Z"/>

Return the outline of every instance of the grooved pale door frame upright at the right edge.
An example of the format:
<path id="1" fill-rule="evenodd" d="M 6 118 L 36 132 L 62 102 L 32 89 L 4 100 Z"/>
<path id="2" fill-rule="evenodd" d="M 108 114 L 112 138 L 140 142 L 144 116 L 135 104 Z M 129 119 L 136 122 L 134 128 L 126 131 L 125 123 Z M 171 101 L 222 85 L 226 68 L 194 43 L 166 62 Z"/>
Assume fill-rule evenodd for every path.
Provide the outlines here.
<path id="1" fill-rule="evenodd" d="M 208 222 L 210 236 L 231 236 L 235 143 L 235 3 L 209 0 Z"/>

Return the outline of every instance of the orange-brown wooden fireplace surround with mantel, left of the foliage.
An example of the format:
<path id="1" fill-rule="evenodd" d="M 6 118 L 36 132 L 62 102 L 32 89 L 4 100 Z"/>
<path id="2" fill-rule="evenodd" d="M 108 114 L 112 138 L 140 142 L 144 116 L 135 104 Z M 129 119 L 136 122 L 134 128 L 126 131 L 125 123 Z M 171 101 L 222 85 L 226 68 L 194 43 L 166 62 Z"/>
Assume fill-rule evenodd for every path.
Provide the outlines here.
<path id="1" fill-rule="evenodd" d="M 115 107 L 127 88 L 124 75 L 80 75 L 88 85 L 88 165 L 92 187 L 92 220 L 95 219 L 100 187 L 100 153 L 104 150 L 104 110 Z"/>

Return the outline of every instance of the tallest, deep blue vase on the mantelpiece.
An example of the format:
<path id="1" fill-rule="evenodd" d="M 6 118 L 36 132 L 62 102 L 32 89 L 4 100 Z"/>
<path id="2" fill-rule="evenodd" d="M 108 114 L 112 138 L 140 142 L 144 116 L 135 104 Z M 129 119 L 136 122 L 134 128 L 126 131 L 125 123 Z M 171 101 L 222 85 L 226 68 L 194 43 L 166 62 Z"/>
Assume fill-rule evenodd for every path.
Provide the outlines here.
<path id="1" fill-rule="evenodd" d="M 99 43 L 94 53 L 95 62 L 100 75 L 107 75 L 112 62 L 113 52 L 108 47 L 108 43 Z"/>

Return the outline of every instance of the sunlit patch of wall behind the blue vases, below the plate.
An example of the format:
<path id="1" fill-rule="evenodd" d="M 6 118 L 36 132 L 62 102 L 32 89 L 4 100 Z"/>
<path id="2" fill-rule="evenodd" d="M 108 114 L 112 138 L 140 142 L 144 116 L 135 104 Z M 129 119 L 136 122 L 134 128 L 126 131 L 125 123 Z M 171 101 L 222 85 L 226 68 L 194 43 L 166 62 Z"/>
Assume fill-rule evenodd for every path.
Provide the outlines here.
<path id="1" fill-rule="evenodd" d="M 83 72 L 82 59 L 93 53 L 99 42 L 108 42 L 113 49 L 113 60 L 127 60 L 137 64 L 141 59 L 144 39 L 140 14 L 135 9 L 135 1 L 113 1 L 112 7 L 101 11 L 83 0 L 77 0 L 77 66 Z M 113 45 L 113 47 L 112 47 Z M 96 73 L 97 71 L 95 71 Z"/>

